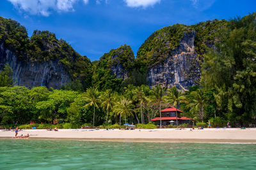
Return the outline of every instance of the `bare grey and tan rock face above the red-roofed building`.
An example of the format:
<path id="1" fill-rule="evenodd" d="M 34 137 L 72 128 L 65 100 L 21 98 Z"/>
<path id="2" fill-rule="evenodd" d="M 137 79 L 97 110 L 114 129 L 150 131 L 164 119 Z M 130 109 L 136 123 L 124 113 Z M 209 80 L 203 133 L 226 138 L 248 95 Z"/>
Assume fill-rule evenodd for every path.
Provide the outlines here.
<path id="1" fill-rule="evenodd" d="M 179 47 L 172 50 L 172 54 L 159 64 L 148 69 L 149 85 L 160 84 L 164 87 L 176 86 L 178 89 L 188 90 L 200 79 L 200 62 L 195 51 L 195 31 L 184 33 Z"/>

